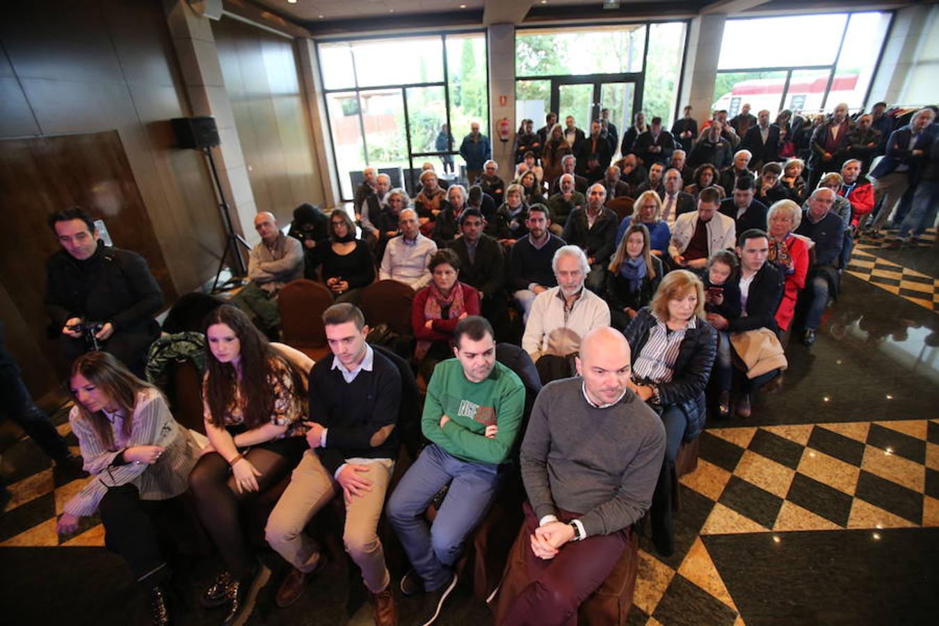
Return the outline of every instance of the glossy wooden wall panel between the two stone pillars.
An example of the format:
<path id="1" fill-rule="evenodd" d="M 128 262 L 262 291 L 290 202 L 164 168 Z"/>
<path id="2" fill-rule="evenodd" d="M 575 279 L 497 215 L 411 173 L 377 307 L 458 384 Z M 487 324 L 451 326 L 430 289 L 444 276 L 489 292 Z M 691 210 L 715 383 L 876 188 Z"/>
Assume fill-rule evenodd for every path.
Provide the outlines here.
<path id="1" fill-rule="evenodd" d="M 294 43 L 229 18 L 212 33 L 254 201 L 284 224 L 300 203 L 323 202 Z"/>

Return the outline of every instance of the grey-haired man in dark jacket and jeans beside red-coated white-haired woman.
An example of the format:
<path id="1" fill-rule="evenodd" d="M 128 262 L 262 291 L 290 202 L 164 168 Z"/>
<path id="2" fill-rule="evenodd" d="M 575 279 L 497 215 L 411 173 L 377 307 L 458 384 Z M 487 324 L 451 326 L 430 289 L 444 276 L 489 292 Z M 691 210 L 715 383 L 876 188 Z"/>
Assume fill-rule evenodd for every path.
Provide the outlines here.
<path id="1" fill-rule="evenodd" d="M 808 237 L 815 242 L 815 265 L 806 278 L 807 288 L 802 298 L 808 300 L 806 329 L 802 343 L 815 343 L 815 331 L 822 323 L 822 313 L 828 305 L 828 297 L 837 295 L 840 283 L 839 264 L 844 247 L 844 221 L 831 211 L 836 193 L 820 187 L 808 196 L 808 208 L 802 212 L 802 221 L 795 229 L 796 235 Z"/>

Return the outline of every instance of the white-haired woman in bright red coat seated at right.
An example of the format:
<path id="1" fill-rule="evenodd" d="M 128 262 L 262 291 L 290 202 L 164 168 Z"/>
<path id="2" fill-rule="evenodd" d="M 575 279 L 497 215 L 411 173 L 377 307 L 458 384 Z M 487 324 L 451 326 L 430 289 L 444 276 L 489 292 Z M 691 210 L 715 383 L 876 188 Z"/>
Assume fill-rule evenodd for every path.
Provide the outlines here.
<path id="1" fill-rule="evenodd" d="M 779 330 L 789 330 L 795 313 L 795 301 L 799 292 L 806 286 L 808 274 L 808 244 L 802 237 L 793 235 L 793 231 L 802 221 L 802 211 L 792 200 L 780 200 L 769 207 L 766 222 L 769 225 L 769 256 L 767 260 L 775 263 L 786 277 L 782 301 L 776 310 L 776 323 Z"/>

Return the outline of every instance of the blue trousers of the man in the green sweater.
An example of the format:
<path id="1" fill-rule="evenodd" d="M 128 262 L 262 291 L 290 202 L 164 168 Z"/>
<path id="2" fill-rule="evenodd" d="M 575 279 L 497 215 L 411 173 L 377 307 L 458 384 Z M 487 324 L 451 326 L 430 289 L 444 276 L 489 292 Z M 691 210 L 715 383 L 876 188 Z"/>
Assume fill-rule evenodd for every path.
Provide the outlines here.
<path id="1" fill-rule="evenodd" d="M 450 490 L 427 527 L 424 511 L 448 482 Z M 424 448 L 398 483 L 386 512 L 426 590 L 447 583 L 463 540 L 483 519 L 498 486 L 499 466 L 461 461 L 437 444 Z"/>

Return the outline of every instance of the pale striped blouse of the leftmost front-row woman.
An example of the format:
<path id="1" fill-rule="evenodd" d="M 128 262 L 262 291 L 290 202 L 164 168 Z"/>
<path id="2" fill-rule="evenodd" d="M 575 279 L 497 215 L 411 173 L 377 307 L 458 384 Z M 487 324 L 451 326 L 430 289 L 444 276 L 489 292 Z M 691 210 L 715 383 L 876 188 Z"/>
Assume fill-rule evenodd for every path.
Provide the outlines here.
<path id="1" fill-rule="evenodd" d="M 64 507 L 72 515 L 86 516 L 98 505 L 110 487 L 133 484 L 143 500 L 165 500 L 178 496 L 189 487 L 189 473 L 199 459 L 199 447 L 189 431 L 180 426 L 157 389 L 142 389 L 133 407 L 131 435 L 124 437 L 120 412 L 111 420 L 114 446 L 108 447 L 98 436 L 90 421 L 85 420 L 78 406 L 69 413 L 71 430 L 85 461 L 85 471 L 92 475 L 85 488 Z M 117 455 L 134 446 L 162 446 L 160 458 L 153 465 L 133 461 L 115 465 Z"/>

